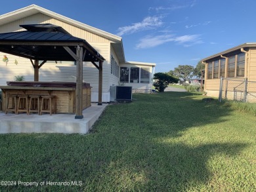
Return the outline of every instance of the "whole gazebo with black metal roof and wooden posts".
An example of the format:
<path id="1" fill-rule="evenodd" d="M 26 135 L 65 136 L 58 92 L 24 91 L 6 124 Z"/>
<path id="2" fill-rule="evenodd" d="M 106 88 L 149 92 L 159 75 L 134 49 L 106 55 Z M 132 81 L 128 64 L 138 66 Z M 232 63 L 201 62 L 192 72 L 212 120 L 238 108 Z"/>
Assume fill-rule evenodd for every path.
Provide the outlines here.
<path id="1" fill-rule="evenodd" d="M 75 119 L 83 119 L 83 62 L 91 62 L 98 69 L 98 105 L 102 105 L 102 64 L 105 59 L 95 48 L 85 39 L 74 37 L 53 24 L 20 27 L 26 31 L 0 33 L 0 52 L 30 59 L 34 81 L 39 81 L 39 69 L 47 61 L 76 62 Z"/>

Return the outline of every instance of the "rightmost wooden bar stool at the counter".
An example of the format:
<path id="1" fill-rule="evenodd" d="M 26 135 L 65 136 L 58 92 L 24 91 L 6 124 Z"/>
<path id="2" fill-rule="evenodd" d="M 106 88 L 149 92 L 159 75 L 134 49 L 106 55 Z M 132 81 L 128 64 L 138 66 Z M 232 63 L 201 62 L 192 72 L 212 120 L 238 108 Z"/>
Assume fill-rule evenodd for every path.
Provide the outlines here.
<path id="1" fill-rule="evenodd" d="M 53 111 L 56 113 L 55 98 L 55 96 L 42 96 L 40 115 L 42 113 L 50 113 L 52 115 Z"/>

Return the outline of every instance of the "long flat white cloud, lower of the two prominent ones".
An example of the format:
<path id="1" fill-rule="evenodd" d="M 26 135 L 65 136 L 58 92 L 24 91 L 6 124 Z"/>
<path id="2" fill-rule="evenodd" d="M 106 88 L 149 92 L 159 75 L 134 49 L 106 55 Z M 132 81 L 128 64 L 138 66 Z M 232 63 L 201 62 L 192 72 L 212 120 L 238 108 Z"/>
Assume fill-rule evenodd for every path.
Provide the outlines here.
<path id="1" fill-rule="evenodd" d="M 200 35 L 182 35 L 175 37 L 174 35 L 157 35 L 157 36 L 146 36 L 140 39 L 140 43 L 137 44 L 136 48 L 151 48 L 157 47 L 168 42 L 175 42 L 184 47 L 190 47 L 195 44 L 203 43 L 200 39 Z"/>

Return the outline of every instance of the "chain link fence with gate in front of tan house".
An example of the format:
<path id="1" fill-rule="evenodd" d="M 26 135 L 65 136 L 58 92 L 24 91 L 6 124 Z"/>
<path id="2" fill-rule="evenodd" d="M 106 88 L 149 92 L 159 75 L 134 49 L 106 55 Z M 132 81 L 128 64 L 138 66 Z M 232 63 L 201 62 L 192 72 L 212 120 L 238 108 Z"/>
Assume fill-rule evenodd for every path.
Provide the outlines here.
<path id="1" fill-rule="evenodd" d="M 256 102 L 256 81 L 221 78 L 219 101 L 221 102 L 223 99 L 239 102 Z"/>

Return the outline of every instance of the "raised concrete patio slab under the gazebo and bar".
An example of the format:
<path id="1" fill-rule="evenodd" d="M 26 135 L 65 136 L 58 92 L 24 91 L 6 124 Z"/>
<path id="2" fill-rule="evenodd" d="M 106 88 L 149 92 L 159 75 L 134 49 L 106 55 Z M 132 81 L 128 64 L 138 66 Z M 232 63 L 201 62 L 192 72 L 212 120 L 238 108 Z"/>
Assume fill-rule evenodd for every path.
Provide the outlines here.
<path id="1" fill-rule="evenodd" d="M 45 113 L 43 115 L 20 113 L 5 114 L 0 112 L 0 134 L 7 133 L 65 133 L 85 134 L 100 117 L 108 104 L 91 104 L 83 110 L 83 119 L 75 119 L 75 115 Z"/>

